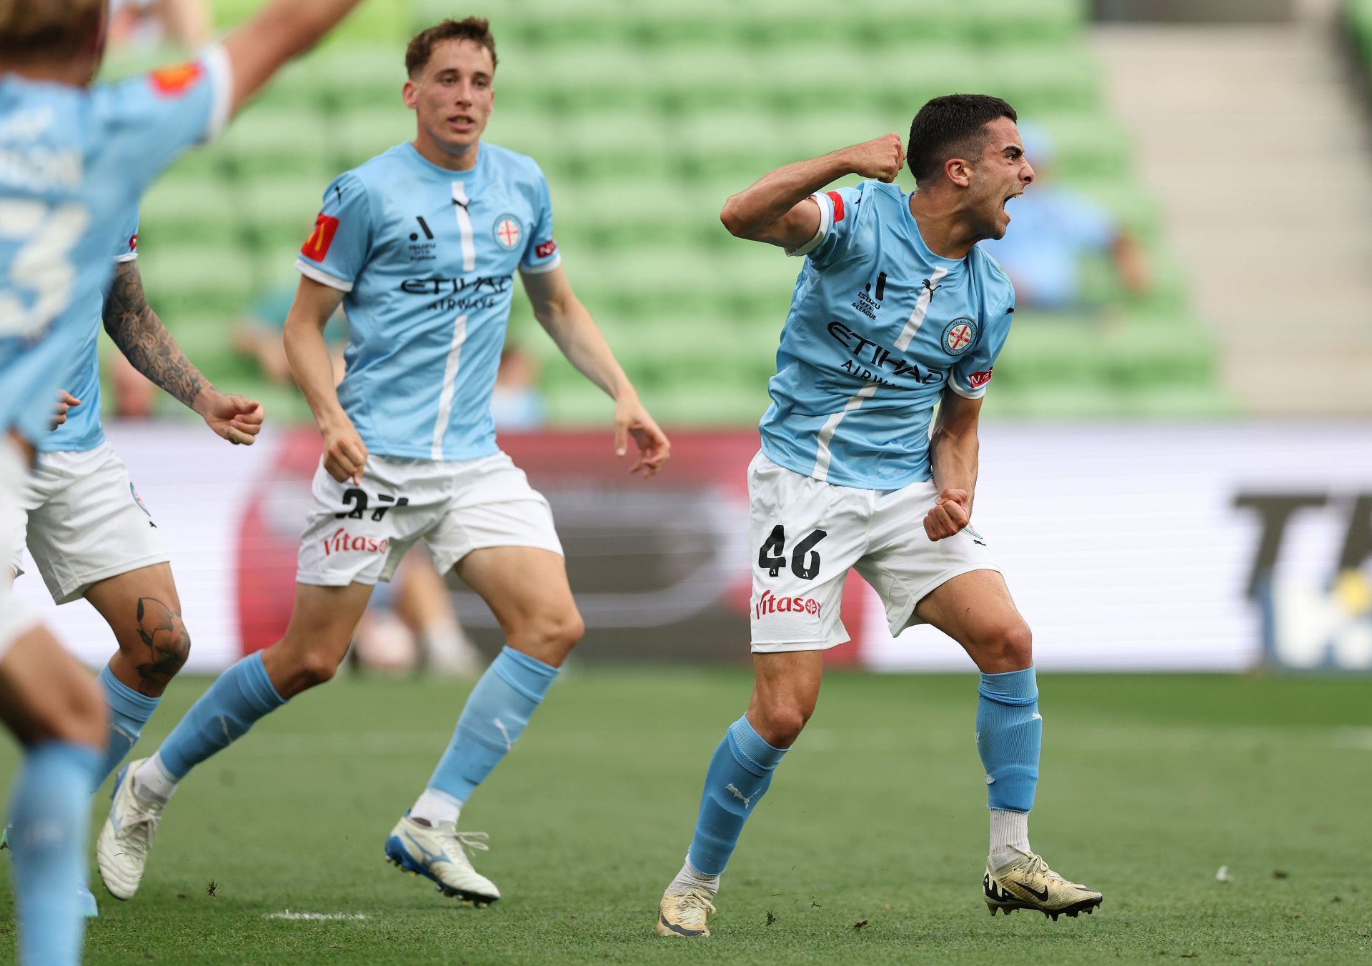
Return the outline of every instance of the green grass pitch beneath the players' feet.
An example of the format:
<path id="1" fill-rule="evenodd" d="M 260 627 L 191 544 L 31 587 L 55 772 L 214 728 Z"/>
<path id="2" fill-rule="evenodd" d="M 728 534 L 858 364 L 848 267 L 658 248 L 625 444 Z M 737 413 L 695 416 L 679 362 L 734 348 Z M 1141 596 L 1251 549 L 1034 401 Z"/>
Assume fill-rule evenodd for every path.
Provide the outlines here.
<path id="1" fill-rule="evenodd" d="M 143 753 L 206 685 L 173 685 Z M 1050 922 L 981 900 L 973 676 L 831 674 L 744 832 L 713 937 L 660 940 L 659 896 L 748 689 L 733 670 L 564 675 L 464 812 L 506 896 L 475 910 L 381 856 L 468 686 L 336 681 L 189 777 L 133 902 L 96 880 L 86 961 L 1372 962 L 1372 687 L 1353 678 L 1044 675 L 1032 838 L 1106 896 Z M 16 749 L 0 759 L 11 775 Z"/>

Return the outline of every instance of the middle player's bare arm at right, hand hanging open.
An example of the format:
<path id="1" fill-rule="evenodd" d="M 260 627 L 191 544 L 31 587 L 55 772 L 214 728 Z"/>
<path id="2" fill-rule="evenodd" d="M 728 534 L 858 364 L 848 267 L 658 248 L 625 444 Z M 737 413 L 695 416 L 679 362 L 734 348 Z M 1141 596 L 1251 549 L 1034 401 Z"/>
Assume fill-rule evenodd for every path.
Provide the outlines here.
<path id="1" fill-rule="evenodd" d="M 624 456 L 628 436 L 632 436 L 638 461 L 628 472 L 642 469 L 645 476 L 656 473 L 667 462 L 671 443 L 643 409 L 638 391 L 615 360 L 605 336 L 572 292 L 567 273 L 558 266 L 550 272 L 521 272 L 520 277 L 539 325 L 563 350 L 563 355 L 615 401 L 615 453 Z"/>

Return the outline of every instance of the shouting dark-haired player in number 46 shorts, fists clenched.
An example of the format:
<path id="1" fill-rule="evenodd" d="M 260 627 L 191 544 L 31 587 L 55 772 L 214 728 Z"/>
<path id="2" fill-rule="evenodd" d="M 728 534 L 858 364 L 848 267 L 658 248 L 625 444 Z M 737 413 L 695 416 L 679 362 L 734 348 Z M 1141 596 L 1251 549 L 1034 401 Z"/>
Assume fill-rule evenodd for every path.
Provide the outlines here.
<path id="1" fill-rule="evenodd" d="M 900 137 L 886 134 L 781 167 L 720 214 L 733 235 L 805 262 L 748 468 L 753 696 L 709 762 L 660 936 L 709 936 L 744 822 L 815 709 L 820 652 L 848 639 L 838 606 L 853 568 L 881 596 L 893 634 L 933 624 L 981 670 L 992 914 L 1056 918 L 1100 903 L 1029 848 L 1041 731 L 1029 628 L 969 526 L 981 399 L 1015 307 L 977 242 L 1006 233 L 1006 203 L 1033 169 L 1014 110 L 984 95 L 936 97 L 915 115 L 912 195 L 889 184 L 903 159 Z M 822 191 L 847 174 L 875 180 Z"/>

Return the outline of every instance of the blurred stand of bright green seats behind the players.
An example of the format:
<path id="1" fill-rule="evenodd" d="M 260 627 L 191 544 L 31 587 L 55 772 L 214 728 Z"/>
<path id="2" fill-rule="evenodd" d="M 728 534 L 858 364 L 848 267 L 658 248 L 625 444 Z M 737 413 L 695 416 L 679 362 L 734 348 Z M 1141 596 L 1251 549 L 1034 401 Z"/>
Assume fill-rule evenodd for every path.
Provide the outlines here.
<path id="1" fill-rule="evenodd" d="M 255 5 L 220 0 L 218 23 Z M 1084 7 L 490 0 L 476 8 L 490 16 L 501 58 L 487 139 L 543 166 L 568 273 L 659 420 L 748 424 L 767 405 L 799 266 L 731 239 L 718 220 L 724 198 L 772 166 L 903 132 L 930 96 L 1002 95 L 1052 136 L 1058 181 L 1146 243 L 1157 284 L 1128 296 L 1102 262 L 1087 274 L 1099 311 L 1017 316 L 988 413 L 1228 412 L 1214 340 L 1188 314 L 1129 139 L 1102 102 Z M 150 298 L 211 377 L 258 392 L 277 416 L 307 410 L 232 355 L 230 324 L 257 294 L 292 279 L 294 252 L 329 180 L 412 134 L 399 103 L 403 43 L 453 14 L 436 0 L 364 5 L 222 143 L 188 158 L 147 198 Z M 903 182 L 911 187 L 908 174 Z M 510 328 L 542 358 L 556 423 L 604 417 L 598 390 L 536 331 L 523 299 Z"/>

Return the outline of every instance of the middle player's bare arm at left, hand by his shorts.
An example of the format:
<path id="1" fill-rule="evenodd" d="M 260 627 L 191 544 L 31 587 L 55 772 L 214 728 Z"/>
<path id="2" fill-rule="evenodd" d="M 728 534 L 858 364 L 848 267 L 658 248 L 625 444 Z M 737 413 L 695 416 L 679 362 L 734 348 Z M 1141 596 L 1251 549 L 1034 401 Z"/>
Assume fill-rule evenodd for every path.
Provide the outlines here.
<path id="1" fill-rule="evenodd" d="M 343 302 L 343 292 L 332 285 L 300 277 L 295 302 L 285 317 L 285 358 L 291 364 L 295 384 L 305 394 L 314 413 L 314 423 L 324 436 L 324 468 L 339 483 L 351 479 L 359 483 L 366 462 L 366 443 L 358 435 L 353 420 L 343 412 L 333 383 L 333 361 L 324 327 Z"/>

